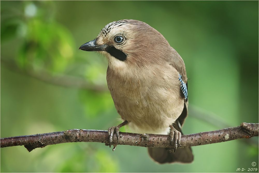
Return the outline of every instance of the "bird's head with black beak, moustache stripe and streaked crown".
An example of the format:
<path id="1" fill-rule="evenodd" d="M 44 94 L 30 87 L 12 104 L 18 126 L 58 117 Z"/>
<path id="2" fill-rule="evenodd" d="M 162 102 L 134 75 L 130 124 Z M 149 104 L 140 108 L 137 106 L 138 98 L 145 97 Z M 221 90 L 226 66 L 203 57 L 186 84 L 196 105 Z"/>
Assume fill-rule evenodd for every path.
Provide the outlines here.
<path id="1" fill-rule="evenodd" d="M 171 51 L 167 40 L 154 28 L 128 19 L 107 24 L 94 40 L 79 49 L 104 54 L 110 68 L 157 64 Z"/>

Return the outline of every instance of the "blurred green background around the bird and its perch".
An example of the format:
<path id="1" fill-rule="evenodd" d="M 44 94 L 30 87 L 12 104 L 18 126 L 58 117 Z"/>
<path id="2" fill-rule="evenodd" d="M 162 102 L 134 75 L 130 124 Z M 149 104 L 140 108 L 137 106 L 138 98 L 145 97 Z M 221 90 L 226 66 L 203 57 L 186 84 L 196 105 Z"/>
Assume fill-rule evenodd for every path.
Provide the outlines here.
<path id="1" fill-rule="evenodd" d="M 258 123 L 258 1 L 1 1 L 1 138 L 119 124 L 106 58 L 78 48 L 120 19 L 146 22 L 182 56 L 190 78 L 185 134 Z M 159 165 L 142 147 L 8 147 L 1 172 L 258 168 L 257 137 L 192 149 L 192 164 Z"/>

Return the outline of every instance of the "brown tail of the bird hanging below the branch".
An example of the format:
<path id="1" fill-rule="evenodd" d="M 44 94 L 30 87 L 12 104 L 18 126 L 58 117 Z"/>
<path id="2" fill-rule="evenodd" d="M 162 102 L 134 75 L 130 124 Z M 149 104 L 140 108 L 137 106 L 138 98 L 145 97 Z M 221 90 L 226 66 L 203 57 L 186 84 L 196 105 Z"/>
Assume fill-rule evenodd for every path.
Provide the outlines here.
<path id="1" fill-rule="evenodd" d="M 166 148 L 148 148 L 148 154 L 158 163 L 191 163 L 193 161 L 191 147 L 178 148 L 175 153 L 169 153 Z"/>

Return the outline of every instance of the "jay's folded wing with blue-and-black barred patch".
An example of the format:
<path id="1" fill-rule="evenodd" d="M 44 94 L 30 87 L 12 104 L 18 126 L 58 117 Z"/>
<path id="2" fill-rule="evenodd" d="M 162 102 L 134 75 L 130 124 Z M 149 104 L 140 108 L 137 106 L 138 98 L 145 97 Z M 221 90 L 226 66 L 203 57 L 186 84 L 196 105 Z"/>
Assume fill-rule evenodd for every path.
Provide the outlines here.
<path id="1" fill-rule="evenodd" d="M 182 114 L 178 117 L 178 121 L 182 126 L 185 118 L 188 115 L 188 84 L 187 84 L 187 76 L 185 70 L 185 64 L 183 62 L 182 57 L 172 48 L 172 56 L 169 60 L 171 66 L 173 66 L 179 72 L 178 80 L 181 82 L 181 91 L 182 96 L 184 97 L 184 108 Z"/>

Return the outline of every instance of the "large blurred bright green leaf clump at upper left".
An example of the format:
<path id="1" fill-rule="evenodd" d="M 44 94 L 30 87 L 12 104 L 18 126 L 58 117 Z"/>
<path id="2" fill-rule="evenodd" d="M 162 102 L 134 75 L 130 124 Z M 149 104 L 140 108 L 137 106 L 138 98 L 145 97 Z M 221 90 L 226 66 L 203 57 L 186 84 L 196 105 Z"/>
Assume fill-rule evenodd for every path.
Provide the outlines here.
<path id="1" fill-rule="evenodd" d="M 62 72 L 74 58 L 74 42 L 70 33 L 57 23 L 31 20 L 26 41 L 20 49 L 17 62 L 21 67 L 45 68 Z"/>

